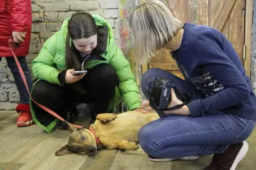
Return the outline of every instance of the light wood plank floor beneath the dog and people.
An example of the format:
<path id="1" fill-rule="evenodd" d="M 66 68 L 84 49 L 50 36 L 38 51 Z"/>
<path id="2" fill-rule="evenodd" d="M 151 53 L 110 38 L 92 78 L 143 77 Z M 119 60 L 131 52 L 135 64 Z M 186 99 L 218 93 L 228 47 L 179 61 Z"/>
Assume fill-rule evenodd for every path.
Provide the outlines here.
<path id="1" fill-rule="evenodd" d="M 150 162 L 141 150 L 136 152 L 101 150 L 94 157 L 70 154 L 56 157 L 54 153 L 68 141 L 68 131 L 47 134 L 38 127 L 16 127 L 18 114 L 0 111 L 0 169 L 90 169 L 90 170 L 200 170 L 211 162 L 211 156 L 193 161 Z M 256 131 L 248 139 L 250 149 L 237 170 L 256 167 Z"/>

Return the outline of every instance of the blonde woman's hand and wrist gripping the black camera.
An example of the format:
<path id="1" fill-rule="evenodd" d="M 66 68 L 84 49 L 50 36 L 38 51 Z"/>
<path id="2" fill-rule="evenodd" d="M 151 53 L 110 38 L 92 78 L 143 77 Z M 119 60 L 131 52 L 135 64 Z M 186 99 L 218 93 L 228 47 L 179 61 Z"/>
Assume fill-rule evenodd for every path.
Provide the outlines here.
<path id="1" fill-rule="evenodd" d="M 170 104 L 168 105 L 168 108 L 171 108 L 173 106 L 176 106 L 178 104 L 182 104 L 183 102 L 180 101 L 176 95 L 174 90 L 171 90 L 171 96 L 172 96 L 172 101 L 170 102 Z M 167 115 L 190 115 L 190 111 L 188 106 L 184 105 L 181 108 L 177 109 L 177 110 L 168 110 L 168 111 L 164 111 L 164 113 L 166 113 Z"/>

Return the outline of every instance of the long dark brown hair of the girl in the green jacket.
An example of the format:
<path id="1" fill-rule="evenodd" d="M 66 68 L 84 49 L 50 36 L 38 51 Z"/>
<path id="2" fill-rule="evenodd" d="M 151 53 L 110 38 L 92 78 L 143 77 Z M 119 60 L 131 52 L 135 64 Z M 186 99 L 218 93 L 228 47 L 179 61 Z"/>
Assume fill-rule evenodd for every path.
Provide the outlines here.
<path id="1" fill-rule="evenodd" d="M 97 25 L 90 13 L 78 12 L 74 13 L 68 21 L 68 34 L 66 40 L 66 66 L 68 69 L 81 70 L 81 56 L 76 50 L 72 39 L 90 38 L 97 34 Z M 74 88 L 84 93 L 83 87 L 77 81 L 73 83 Z"/>

